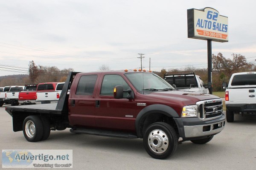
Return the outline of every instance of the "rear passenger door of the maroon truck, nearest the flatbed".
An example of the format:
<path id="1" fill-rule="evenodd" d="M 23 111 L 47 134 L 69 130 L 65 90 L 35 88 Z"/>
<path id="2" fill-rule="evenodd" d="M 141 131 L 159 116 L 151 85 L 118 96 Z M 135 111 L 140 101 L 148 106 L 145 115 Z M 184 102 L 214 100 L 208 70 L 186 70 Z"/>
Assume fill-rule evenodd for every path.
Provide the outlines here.
<path id="1" fill-rule="evenodd" d="M 75 127 L 95 127 L 95 93 L 98 75 L 81 75 L 69 99 L 69 120 Z M 70 90 L 71 91 L 71 90 Z"/>

